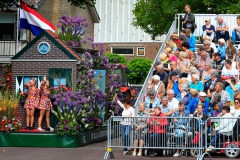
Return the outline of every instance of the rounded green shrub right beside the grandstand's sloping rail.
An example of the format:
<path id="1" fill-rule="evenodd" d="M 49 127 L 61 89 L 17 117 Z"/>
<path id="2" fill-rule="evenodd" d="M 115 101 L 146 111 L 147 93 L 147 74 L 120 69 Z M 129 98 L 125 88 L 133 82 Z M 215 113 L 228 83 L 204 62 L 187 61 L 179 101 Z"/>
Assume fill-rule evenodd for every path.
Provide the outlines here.
<path id="1" fill-rule="evenodd" d="M 129 61 L 127 63 L 129 82 L 132 84 L 143 84 L 152 62 L 152 60 L 146 58 L 133 58 Z"/>

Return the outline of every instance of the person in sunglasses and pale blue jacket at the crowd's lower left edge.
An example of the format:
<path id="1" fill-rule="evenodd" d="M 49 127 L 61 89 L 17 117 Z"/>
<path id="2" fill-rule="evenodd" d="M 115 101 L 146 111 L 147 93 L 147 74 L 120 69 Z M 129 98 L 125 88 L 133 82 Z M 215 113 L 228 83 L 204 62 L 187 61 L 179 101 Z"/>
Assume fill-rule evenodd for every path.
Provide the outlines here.
<path id="1" fill-rule="evenodd" d="M 145 104 L 149 112 L 153 112 L 155 106 L 160 106 L 160 100 L 156 97 L 153 89 L 149 91 L 148 97 L 145 99 Z"/>

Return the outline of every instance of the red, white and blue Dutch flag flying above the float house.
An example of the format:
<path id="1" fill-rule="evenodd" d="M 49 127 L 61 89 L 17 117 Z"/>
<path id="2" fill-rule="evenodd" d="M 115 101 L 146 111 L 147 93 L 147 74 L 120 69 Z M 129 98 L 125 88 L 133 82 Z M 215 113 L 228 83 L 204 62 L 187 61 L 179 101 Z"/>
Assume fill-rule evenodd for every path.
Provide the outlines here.
<path id="1" fill-rule="evenodd" d="M 34 9 L 28 7 L 26 3 L 21 3 L 20 28 L 30 30 L 33 35 L 38 36 L 42 30 L 55 32 L 55 27 L 48 20 L 43 18 Z"/>

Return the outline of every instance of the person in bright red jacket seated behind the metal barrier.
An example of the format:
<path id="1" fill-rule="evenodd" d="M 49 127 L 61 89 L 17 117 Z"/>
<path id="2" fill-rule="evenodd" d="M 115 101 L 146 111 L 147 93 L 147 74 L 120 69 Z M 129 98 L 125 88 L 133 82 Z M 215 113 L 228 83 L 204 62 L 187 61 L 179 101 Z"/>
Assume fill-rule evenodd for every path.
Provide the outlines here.
<path id="1" fill-rule="evenodd" d="M 151 147 L 163 147 L 165 146 L 166 129 L 168 125 L 167 116 L 161 112 L 159 106 L 154 107 L 154 114 L 151 115 L 147 121 L 150 134 L 150 146 Z M 149 157 L 157 156 L 156 149 L 150 150 Z"/>

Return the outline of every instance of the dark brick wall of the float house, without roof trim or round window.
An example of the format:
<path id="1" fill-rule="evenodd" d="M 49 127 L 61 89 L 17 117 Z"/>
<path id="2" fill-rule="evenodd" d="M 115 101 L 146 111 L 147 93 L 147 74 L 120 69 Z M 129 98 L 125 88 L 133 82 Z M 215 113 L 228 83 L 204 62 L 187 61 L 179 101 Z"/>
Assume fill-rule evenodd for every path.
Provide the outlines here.
<path id="1" fill-rule="evenodd" d="M 40 41 L 47 41 L 51 45 L 51 51 L 47 55 L 41 55 L 37 51 L 37 45 Z M 13 91 L 16 90 L 16 76 L 44 76 L 48 75 L 49 68 L 72 68 L 72 84 L 75 84 L 75 77 L 76 77 L 76 64 L 77 62 L 61 62 L 57 61 L 58 59 L 68 59 L 68 56 L 65 55 L 59 48 L 57 48 L 51 41 L 49 41 L 46 37 L 42 37 L 38 42 L 36 42 L 31 48 L 29 48 L 25 53 L 23 53 L 18 60 L 22 59 L 35 59 L 35 61 L 31 62 L 22 62 L 22 61 L 12 61 L 12 78 L 13 84 L 12 89 Z M 38 61 L 38 59 L 48 59 L 53 61 Z M 74 88 L 74 86 L 73 86 Z M 26 126 L 25 121 L 25 109 L 23 105 L 19 103 L 19 112 L 20 116 L 22 117 L 23 127 Z M 37 127 L 37 120 L 39 117 L 39 110 L 35 111 L 35 121 L 34 127 Z M 43 128 L 46 127 L 45 118 L 43 119 Z"/>

